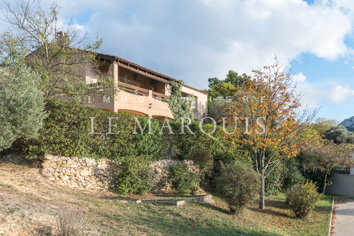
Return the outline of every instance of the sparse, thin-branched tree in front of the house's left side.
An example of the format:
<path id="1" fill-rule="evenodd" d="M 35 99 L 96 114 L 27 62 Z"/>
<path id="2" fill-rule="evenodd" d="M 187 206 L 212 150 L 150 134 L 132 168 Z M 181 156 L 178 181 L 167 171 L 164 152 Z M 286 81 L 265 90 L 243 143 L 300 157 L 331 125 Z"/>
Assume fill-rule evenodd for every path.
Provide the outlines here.
<path id="1" fill-rule="evenodd" d="M 109 66 L 96 58 L 103 40 L 96 36 L 92 44 L 85 43 L 87 33 L 80 32 L 73 17 L 57 23 L 60 6 L 44 9 L 39 0 L 18 0 L 1 10 L 12 28 L 0 35 L 0 64 L 25 62 L 40 75 L 38 87 L 45 97 L 86 103 L 119 91 Z"/>

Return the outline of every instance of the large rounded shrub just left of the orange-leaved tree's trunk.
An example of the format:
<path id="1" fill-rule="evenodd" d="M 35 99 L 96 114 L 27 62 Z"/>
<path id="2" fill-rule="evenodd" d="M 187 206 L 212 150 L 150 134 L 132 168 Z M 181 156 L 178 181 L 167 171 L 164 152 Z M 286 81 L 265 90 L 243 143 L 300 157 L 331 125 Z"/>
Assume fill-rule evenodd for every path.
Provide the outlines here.
<path id="1" fill-rule="evenodd" d="M 246 164 L 225 165 L 217 180 L 217 190 L 227 202 L 232 214 L 240 214 L 259 194 L 259 175 Z"/>

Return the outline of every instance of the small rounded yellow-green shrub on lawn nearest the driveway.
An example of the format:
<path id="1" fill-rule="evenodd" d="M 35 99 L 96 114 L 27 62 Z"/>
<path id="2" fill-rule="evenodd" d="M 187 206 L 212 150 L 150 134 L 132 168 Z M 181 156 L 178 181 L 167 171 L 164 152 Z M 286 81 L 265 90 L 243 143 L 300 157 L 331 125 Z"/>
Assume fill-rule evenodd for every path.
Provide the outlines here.
<path id="1" fill-rule="evenodd" d="M 317 192 L 315 183 L 307 181 L 302 185 L 294 185 L 286 193 L 286 201 L 297 218 L 306 218 L 323 194 Z"/>

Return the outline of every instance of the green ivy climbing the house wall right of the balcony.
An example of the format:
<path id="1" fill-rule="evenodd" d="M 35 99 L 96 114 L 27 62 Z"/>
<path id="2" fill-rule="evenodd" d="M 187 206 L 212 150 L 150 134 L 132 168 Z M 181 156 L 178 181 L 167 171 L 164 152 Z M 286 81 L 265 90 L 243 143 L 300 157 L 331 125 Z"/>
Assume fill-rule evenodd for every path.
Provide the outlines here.
<path id="1" fill-rule="evenodd" d="M 190 107 L 194 104 L 194 97 L 185 101 L 182 97 L 182 81 L 172 80 L 170 81 L 170 99 L 167 99 L 167 103 L 172 111 L 173 117 L 176 120 L 181 120 L 181 117 L 188 117 L 194 120 L 194 111 Z"/>

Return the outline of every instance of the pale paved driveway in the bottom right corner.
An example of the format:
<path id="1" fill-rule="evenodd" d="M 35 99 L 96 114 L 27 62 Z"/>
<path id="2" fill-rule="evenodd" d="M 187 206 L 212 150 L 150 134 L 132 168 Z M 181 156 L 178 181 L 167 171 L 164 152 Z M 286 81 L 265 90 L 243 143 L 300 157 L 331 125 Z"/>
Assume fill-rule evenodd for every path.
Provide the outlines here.
<path id="1" fill-rule="evenodd" d="M 336 219 L 333 222 L 335 236 L 354 235 L 354 201 L 338 201 L 335 205 Z"/>

